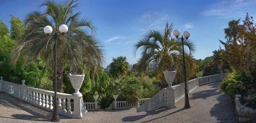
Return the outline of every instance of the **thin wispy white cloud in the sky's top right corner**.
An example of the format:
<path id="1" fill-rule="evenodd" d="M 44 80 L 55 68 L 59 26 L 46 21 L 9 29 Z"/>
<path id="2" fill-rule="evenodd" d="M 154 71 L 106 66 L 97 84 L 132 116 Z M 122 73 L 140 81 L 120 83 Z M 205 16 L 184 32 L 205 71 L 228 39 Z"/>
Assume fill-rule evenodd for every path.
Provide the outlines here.
<path id="1" fill-rule="evenodd" d="M 256 4 L 256 0 L 223 0 L 208 6 L 202 14 L 218 16 L 220 19 L 243 17 L 246 12 L 241 11 L 241 9 L 252 4 Z"/>

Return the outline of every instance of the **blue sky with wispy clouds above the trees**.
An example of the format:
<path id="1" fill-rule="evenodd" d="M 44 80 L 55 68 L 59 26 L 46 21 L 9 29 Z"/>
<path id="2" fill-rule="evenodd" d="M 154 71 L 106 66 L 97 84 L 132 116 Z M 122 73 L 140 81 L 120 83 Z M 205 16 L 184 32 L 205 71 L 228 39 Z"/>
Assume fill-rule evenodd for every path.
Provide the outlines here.
<path id="1" fill-rule="evenodd" d="M 38 8 L 41 0 L 0 0 L 0 20 L 10 28 L 10 14 L 24 19 Z M 57 0 L 65 1 L 65 0 Z M 195 43 L 196 59 L 212 56 L 225 40 L 224 28 L 232 19 L 244 20 L 246 12 L 256 16 L 256 0 L 79 0 L 81 17 L 93 19 L 97 27 L 95 37 L 106 50 L 105 67 L 112 57 L 126 56 L 130 64 L 140 57 L 133 56 L 133 45 L 146 31 L 163 31 L 168 21 L 174 29 L 190 32 Z M 223 48 L 223 46 L 221 46 Z"/>

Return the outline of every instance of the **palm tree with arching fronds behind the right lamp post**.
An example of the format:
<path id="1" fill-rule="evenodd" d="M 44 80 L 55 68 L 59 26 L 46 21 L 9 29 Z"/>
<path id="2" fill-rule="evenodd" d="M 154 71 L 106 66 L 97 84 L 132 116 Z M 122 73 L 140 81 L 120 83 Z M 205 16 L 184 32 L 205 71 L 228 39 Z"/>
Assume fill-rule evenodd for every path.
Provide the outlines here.
<path id="1" fill-rule="evenodd" d="M 173 23 L 171 25 L 166 22 L 163 32 L 157 30 L 148 30 L 144 37 L 134 44 L 134 56 L 137 50 L 141 49 L 141 58 L 137 63 L 137 71 L 145 73 L 149 63 L 152 63 L 156 70 L 156 77 L 160 79 L 162 88 L 168 84 L 163 77 L 163 71 L 168 67 L 173 67 L 177 71 L 176 79 L 181 82 L 183 79 L 183 60 L 182 60 L 182 43 L 179 39 L 172 36 Z M 190 39 L 184 41 L 184 45 L 188 47 L 185 50 L 185 62 L 187 78 L 195 76 L 198 66 L 193 59 L 193 53 L 196 50 L 195 44 Z"/>

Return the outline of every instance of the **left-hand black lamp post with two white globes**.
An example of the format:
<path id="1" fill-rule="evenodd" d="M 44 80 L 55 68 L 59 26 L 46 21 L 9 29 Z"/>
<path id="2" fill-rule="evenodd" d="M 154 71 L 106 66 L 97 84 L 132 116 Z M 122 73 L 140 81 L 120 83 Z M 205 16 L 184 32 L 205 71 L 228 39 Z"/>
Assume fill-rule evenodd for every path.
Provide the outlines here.
<path id="1" fill-rule="evenodd" d="M 57 61 L 56 60 L 57 59 L 57 57 L 56 57 L 56 54 L 57 54 L 56 53 L 57 52 L 57 37 L 61 36 L 61 35 L 64 35 L 67 32 L 67 30 L 68 30 L 67 25 L 62 24 L 62 25 L 60 25 L 59 28 L 56 26 L 54 35 L 50 35 L 50 33 L 52 33 L 52 31 L 53 31 L 52 27 L 51 26 L 45 26 L 43 28 L 44 33 L 46 33 L 47 36 L 53 37 L 54 41 L 55 41 L 55 43 L 54 43 L 54 50 L 55 50 L 55 53 L 54 53 L 54 60 L 55 60 L 55 62 L 54 62 L 54 66 L 55 66 L 55 70 L 54 70 L 54 101 L 53 101 L 54 103 L 53 103 L 53 117 L 51 119 L 52 122 L 59 122 L 60 121 L 58 110 L 57 110 L 57 106 L 58 106 L 58 97 L 57 97 L 57 67 L 56 67 L 56 63 L 57 63 L 56 62 Z M 57 31 L 60 31 L 61 34 L 57 34 Z"/>

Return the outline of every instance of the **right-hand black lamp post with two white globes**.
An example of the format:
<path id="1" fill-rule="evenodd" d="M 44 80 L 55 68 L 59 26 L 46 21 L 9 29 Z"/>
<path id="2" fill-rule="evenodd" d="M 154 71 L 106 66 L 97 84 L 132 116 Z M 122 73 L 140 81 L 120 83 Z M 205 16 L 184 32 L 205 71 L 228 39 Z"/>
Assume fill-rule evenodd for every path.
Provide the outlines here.
<path id="1" fill-rule="evenodd" d="M 188 92 L 187 92 L 187 78 L 186 78 L 186 65 L 185 65 L 185 56 L 184 56 L 184 38 L 183 38 L 183 35 L 186 38 L 185 40 L 187 40 L 190 36 L 190 33 L 188 31 L 185 31 L 183 33 L 183 35 L 181 35 L 181 38 L 179 38 L 180 31 L 179 30 L 174 30 L 173 35 L 177 39 L 181 39 L 181 41 L 182 41 L 183 69 L 184 69 L 184 80 L 185 80 L 185 106 L 184 106 L 184 108 L 188 109 L 188 108 L 191 108 L 191 106 L 189 104 L 189 95 L 188 95 Z"/>

